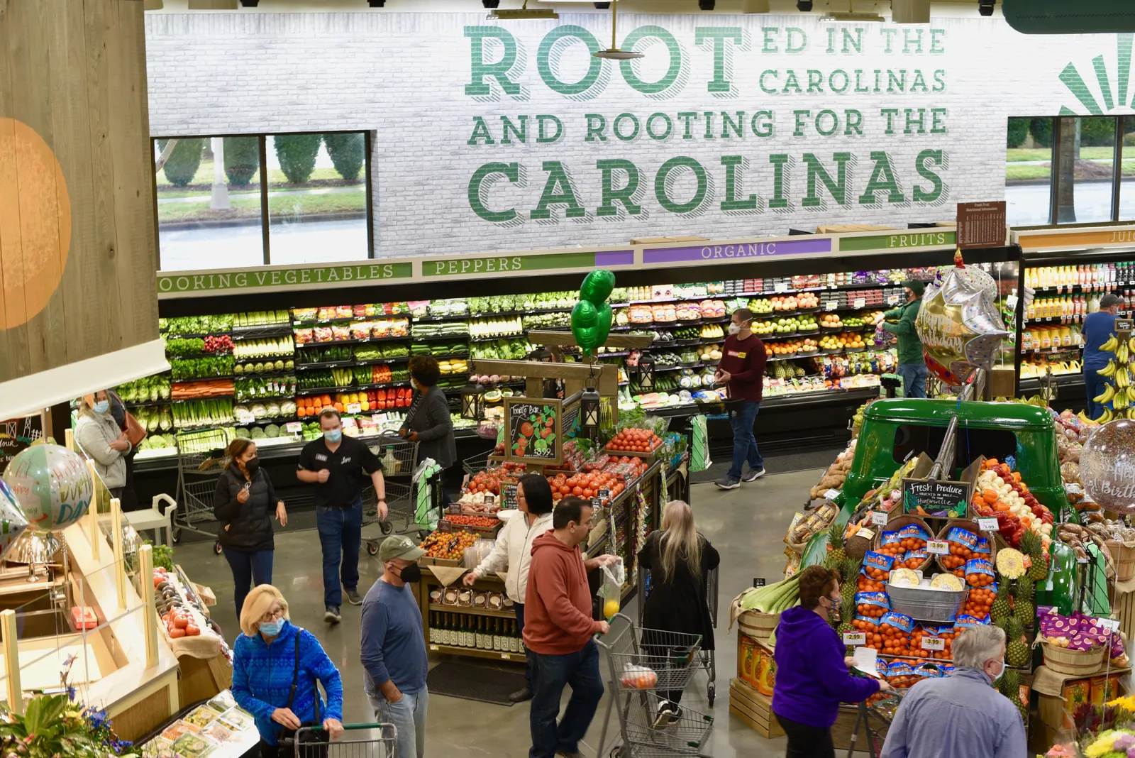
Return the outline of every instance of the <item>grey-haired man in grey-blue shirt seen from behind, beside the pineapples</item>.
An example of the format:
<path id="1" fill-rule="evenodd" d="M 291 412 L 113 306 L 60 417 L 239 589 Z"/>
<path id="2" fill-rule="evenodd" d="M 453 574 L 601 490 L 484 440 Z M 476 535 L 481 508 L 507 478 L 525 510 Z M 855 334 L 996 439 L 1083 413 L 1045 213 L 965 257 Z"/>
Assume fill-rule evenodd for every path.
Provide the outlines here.
<path id="1" fill-rule="evenodd" d="M 907 691 L 880 758 L 1024 758 L 1020 713 L 993 688 L 1004 673 L 1004 631 L 970 626 L 951 649 L 953 674 Z"/>

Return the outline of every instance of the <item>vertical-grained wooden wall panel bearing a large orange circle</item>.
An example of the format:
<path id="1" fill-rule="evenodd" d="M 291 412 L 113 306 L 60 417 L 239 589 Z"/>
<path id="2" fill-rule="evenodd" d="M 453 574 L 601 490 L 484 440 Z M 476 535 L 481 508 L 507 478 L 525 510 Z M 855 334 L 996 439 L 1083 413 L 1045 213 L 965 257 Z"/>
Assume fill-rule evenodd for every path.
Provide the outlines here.
<path id="1" fill-rule="evenodd" d="M 158 337 L 145 86 L 142 0 L 0 0 L 0 381 Z"/>

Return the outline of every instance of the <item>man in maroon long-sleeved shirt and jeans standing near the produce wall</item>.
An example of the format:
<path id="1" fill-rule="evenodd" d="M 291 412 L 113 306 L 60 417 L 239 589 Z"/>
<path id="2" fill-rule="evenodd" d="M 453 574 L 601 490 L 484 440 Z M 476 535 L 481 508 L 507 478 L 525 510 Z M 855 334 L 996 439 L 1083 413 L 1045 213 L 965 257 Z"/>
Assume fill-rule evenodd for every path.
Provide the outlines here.
<path id="1" fill-rule="evenodd" d="M 760 407 L 767 360 L 765 344 L 753 334 L 753 313 L 745 308 L 737 309 L 729 325 L 729 336 L 725 337 L 715 376 L 716 384 L 724 386 L 734 401 L 730 418 L 733 427 L 733 465 L 729 473 L 714 482 L 721 489 L 737 489 L 742 481 L 755 481 L 765 475 L 765 462 L 757 450 L 753 424 Z M 746 461 L 749 462 L 749 470 L 742 473 Z"/>

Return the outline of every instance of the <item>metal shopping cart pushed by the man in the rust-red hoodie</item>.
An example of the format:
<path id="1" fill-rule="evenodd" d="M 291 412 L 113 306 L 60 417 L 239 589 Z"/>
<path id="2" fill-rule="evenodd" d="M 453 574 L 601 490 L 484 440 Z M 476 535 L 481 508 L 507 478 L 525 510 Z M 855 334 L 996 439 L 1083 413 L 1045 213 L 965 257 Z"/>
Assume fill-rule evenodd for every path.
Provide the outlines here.
<path id="1" fill-rule="evenodd" d="M 622 614 L 611 618 L 611 631 L 596 642 L 607 652 L 611 699 L 599 733 L 598 756 L 606 749 L 611 713 L 619 716 L 621 743 L 611 758 L 698 756 L 709 758 L 713 716 L 684 705 L 678 715 L 659 718 L 658 707 L 682 692 L 699 669 L 699 634 L 641 629 Z"/>

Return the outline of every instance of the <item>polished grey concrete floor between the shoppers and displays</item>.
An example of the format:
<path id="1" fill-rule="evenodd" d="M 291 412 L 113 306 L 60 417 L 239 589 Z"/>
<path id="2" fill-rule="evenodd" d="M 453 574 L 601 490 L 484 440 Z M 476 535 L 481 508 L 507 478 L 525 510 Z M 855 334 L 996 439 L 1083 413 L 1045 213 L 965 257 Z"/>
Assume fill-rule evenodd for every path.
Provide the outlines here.
<path id="1" fill-rule="evenodd" d="M 822 471 L 799 471 L 770 474 L 740 489 L 721 491 L 712 485 L 693 487 L 692 505 L 698 529 L 721 551 L 720 610 L 716 633 L 717 698 L 713 708 L 706 700 L 706 677 L 698 674 L 682 705 L 716 718 L 709 753 L 715 758 L 782 758 L 784 739 L 766 740 L 729 713 L 729 681 L 737 671 L 737 633 L 726 631 L 729 603 L 753 579 L 768 582 L 782 578 L 784 568 L 784 531 L 792 513 L 801 505 L 809 487 Z M 217 595 L 213 615 L 229 640 L 238 634 L 233 607 L 232 575 L 221 556 L 212 554 L 211 542 L 197 542 L 175 548 L 175 558 L 190 576 L 212 588 Z M 364 593 L 380 575 L 377 558 L 363 551 L 359 591 Z M 359 612 L 343 607 L 343 623 L 328 628 L 323 621 L 322 575 L 318 539 L 313 531 L 277 532 L 274 583 L 287 597 L 292 621 L 316 633 L 344 673 L 346 698 L 344 717 L 347 722 L 370 722 L 373 716 L 362 692 L 359 663 Z M 628 615 L 636 617 L 631 607 Z M 606 663 L 603 664 L 606 666 Z M 606 671 L 606 668 L 604 668 Z M 606 679 L 606 674 L 604 674 Z M 566 699 L 566 692 L 565 692 Z M 595 755 L 607 700 L 588 734 L 588 756 Z M 617 730 L 615 716 L 613 726 Z M 608 738 L 609 742 L 609 738 Z M 427 758 L 463 756 L 508 756 L 522 758 L 530 746 L 528 707 L 503 707 L 444 696 L 431 696 Z M 582 748 L 581 748 L 582 749 Z"/>

